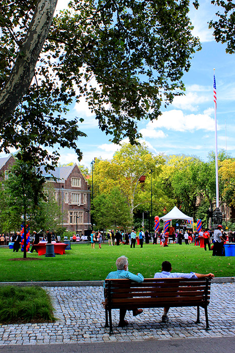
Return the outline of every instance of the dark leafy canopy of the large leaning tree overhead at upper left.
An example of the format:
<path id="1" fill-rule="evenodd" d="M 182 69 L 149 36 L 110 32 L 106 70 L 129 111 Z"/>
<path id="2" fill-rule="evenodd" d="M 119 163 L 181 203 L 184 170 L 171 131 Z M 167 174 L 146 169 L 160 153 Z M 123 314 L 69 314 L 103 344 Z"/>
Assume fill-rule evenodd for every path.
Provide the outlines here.
<path id="1" fill-rule="evenodd" d="M 30 82 L 37 56 L 31 44 L 40 35 L 42 44 L 47 33 L 39 19 L 47 11 L 49 24 L 55 4 L 1 2 L 0 148 L 20 147 L 23 156 L 26 151 L 56 161 L 58 150 L 50 156 L 46 148 L 58 143 L 81 157 L 76 141 L 85 134 L 79 118 L 66 120 L 65 113 L 82 96 L 113 142 L 128 136 L 134 143 L 137 121 L 157 118 L 161 104 L 184 89 L 182 75 L 199 48 L 191 34 L 189 0 L 71 0 L 69 9 L 53 19 L 35 79 L 21 98 L 25 85 L 19 85 L 19 76 L 12 90 L 17 68 L 28 63 Z"/>

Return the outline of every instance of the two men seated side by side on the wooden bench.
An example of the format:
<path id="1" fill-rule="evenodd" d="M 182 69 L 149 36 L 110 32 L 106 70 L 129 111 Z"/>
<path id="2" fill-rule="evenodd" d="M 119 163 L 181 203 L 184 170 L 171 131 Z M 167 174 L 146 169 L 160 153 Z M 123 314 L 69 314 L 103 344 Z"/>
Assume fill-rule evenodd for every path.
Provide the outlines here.
<path id="1" fill-rule="evenodd" d="M 115 279 L 115 278 L 128 278 L 131 281 L 141 283 L 143 281 L 143 276 L 141 273 L 137 273 L 136 275 L 129 272 L 128 270 L 128 259 L 125 256 L 121 256 L 116 260 L 116 267 L 117 271 L 112 271 L 110 272 L 106 279 Z M 172 266 L 169 261 L 164 261 L 162 263 L 162 272 L 156 272 L 154 274 L 154 278 L 189 278 L 189 279 L 197 279 L 197 278 L 213 278 L 214 274 L 213 273 L 207 273 L 207 274 L 201 274 L 201 273 L 196 273 L 196 272 L 190 272 L 190 273 L 177 273 L 174 272 L 172 273 Z M 105 283 L 104 283 L 105 285 Z M 163 316 L 162 316 L 162 321 L 167 322 L 169 320 L 168 318 L 168 311 L 169 307 L 164 308 Z M 120 309 L 120 315 L 119 315 L 119 327 L 124 327 L 128 325 L 128 321 L 125 320 L 125 315 L 126 311 L 128 309 Z M 143 312 L 142 309 L 135 308 L 133 311 L 133 316 L 137 316 Z"/>

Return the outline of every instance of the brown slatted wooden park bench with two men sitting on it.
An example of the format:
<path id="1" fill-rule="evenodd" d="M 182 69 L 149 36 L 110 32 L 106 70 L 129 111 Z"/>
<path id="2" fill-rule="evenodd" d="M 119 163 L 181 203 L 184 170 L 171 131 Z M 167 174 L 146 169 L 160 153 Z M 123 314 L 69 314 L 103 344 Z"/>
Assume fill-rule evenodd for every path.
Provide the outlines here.
<path id="1" fill-rule="evenodd" d="M 106 279 L 104 289 L 105 327 L 113 333 L 112 309 L 197 307 L 205 310 L 206 330 L 209 330 L 207 306 L 210 301 L 210 279 L 145 278 L 142 283 L 129 279 Z M 109 317 L 109 323 L 108 323 Z"/>

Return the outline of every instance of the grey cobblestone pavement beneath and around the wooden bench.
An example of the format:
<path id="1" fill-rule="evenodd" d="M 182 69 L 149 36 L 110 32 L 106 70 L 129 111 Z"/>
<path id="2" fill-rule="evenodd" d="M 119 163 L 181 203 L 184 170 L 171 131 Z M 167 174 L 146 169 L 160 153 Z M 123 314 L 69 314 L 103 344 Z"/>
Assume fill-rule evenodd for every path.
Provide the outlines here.
<path id="1" fill-rule="evenodd" d="M 147 343 L 169 339 L 173 342 L 179 338 L 195 339 L 196 337 L 204 337 L 210 341 L 216 337 L 235 336 L 235 283 L 214 283 L 211 285 L 211 301 L 208 307 L 210 331 L 204 330 L 205 317 L 202 309 L 201 324 L 194 323 L 197 316 L 196 308 L 170 309 L 170 321 L 167 324 L 161 323 L 162 309 L 144 309 L 144 313 L 137 317 L 132 317 L 127 312 L 126 319 L 129 321 L 129 325 L 125 328 L 117 327 L 119 312 L 113 310 L 114 334 L 111 336 L 109 329 L 104 327 L 105 311 L 101 305 L 102 287 L 45 287 L 45 289 L 53 300 L 55 316 L 58 320 L 48 324 L 1 325 L 1 351 L 5 345 L 8 345 L 8 351 L 14 351 L 10 347 L 18 344 L 34 345 L 37 343 L 37 347 L 39 347 L 40 344 L 54 345 L 53 343 L 120 343 L 130 341 L 145 341 Z M 23 350 L 20 349 L 20 351 Z M 35 351 L 37 350 L 35 349 Z M 111 351 L 123 350 L 112 349 Z M 171 350 L 171 352 L 173 351 Z M 222 349 L 219 351 L 223 352 Z"/>

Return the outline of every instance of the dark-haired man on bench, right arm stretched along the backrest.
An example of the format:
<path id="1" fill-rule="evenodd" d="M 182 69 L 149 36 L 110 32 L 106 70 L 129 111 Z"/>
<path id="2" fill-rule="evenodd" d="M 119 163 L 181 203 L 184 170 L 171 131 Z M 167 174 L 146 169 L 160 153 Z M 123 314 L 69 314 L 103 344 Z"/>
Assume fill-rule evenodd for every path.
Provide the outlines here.
<path id="1" fill-rule="evenodd" d="M 156 272 L 154 274 L 154 278 L 189 278 L 189 279 L 197 279 L 197 278 L 214 278 L 213 273 L 207 273 L 207 274 L 201 274 L 201 273 L 195 273 L 195 272 L 190 272 L 190 273 L 171 273 L 172 271 L 172 265 L 169 261 L 164 261 L 162 263 L 162 272 Z M 163 316 L 162 316 L 162 322 L 167 322 L 169 320 L 167 313 L 169 311 L 169 307 L 164 308 Z"/>

